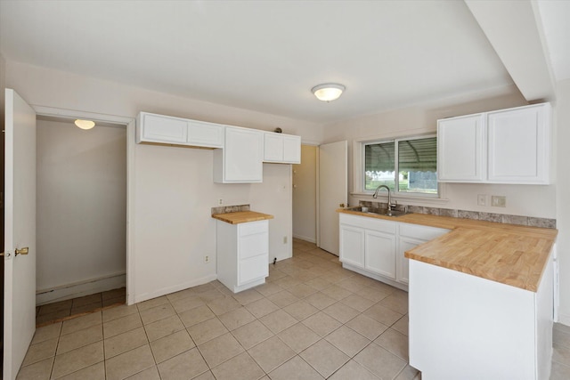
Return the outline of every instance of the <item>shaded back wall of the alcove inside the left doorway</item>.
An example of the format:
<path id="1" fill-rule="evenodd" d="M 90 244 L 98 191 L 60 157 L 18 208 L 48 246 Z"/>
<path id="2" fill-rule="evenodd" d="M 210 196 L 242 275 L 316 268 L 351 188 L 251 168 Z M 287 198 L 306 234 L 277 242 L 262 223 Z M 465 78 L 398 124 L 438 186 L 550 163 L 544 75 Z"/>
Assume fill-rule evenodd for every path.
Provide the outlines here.
<path id="1" fill-rule="evenodd" d="M 126 128 L 37 120 L 37 289 L 125 271 Z"/>

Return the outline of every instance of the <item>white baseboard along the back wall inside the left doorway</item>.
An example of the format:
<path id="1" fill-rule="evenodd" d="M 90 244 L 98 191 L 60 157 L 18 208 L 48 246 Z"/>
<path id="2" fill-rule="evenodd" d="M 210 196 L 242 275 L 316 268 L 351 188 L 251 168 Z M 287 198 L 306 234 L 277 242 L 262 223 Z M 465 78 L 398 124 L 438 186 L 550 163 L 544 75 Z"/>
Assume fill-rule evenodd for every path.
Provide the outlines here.
<path id="1" fill-rule="evenodd" d="M 36 305 L 40 306 L 45 303 L 56 303 L 84 295 L 94 295 L 118 287 L 126 287 L 126 272 L 111 274 L 97 279 L 86 279 L 85 281 L 74 282 L 59 287 L 37 290 Z"/>

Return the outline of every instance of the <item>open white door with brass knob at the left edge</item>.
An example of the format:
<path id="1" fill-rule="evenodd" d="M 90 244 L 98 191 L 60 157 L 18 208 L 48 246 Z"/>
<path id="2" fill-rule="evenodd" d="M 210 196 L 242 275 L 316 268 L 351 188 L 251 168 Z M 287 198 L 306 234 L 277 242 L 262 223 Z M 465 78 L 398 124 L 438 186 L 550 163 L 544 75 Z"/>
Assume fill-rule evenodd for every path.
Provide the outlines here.
<path id="1" fill-rule="evenodd" d="M 36 112 L 5 94 L 4 380 L 13 380 L 36 331 Z"/>

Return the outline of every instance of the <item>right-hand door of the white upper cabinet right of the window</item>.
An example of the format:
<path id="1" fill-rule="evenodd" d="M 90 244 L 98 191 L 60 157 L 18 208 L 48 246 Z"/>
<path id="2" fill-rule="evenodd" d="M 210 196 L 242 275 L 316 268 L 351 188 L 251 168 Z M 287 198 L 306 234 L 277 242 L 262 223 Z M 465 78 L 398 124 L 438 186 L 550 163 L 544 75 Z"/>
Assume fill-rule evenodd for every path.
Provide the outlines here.
<path id="1" fill-rule="evenodd" d="M 489 112 L 489 182 L 549 183 L 548 103 Z"/>

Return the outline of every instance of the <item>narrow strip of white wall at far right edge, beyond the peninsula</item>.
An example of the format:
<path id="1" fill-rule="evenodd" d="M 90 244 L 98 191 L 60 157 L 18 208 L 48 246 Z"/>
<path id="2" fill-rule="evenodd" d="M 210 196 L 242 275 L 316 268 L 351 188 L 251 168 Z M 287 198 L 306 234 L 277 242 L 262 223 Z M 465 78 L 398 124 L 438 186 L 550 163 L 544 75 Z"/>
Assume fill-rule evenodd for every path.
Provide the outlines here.
<path id="1" fill-rule="evenodd" d="M 570 79 L 558 82 L 557 88 L 557 141 L 558 141 L 558 173 L 557 173 L 557 251 L 559 279 L 559 320 L 570 326 Z"/>

